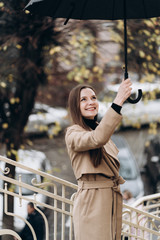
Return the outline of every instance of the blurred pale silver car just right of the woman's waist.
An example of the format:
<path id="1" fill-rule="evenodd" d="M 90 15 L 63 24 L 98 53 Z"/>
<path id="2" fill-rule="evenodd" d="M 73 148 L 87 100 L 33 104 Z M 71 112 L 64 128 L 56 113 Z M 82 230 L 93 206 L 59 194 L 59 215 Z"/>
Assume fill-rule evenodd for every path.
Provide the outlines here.
<path id="1" fill-rule="evenodd" d="M 113 135 L 112 141 L 119 149 L 120 175 L 126 180 L 124 184 L 120 185 L 121 191 L 129 190 L 133 197 L 138 199 L 144 195 L 144 185 L 136 159 L 123 136 Z"/>

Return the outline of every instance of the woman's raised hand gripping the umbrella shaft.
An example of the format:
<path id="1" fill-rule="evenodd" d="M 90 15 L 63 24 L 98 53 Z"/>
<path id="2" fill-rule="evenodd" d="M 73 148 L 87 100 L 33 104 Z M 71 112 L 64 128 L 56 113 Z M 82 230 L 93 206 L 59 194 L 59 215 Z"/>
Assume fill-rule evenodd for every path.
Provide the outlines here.
<path id="1" fill-rule="evenodd" d="M 131 80 L 128 78 L 126 80 L 122 80 L 122 83 L 119 86 L 118 93 L 116 98 L 114 99 L 114 103 L 122 106 L 126 99 L 131 95 Z"/>

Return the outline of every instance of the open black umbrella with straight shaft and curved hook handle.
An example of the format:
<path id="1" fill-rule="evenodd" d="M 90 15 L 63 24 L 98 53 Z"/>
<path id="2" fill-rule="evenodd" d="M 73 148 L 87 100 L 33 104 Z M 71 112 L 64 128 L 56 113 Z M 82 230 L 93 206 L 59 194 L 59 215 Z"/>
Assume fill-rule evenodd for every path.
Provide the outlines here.
<path id="1" fill-rule="evenodd" d="M 72 19 L 124 19 L 124 52 L 125 73 L 128 78 L 127 67 L 127 26 L 126 19 L 143 19 L 160 16 L 160 0 L 31 0 L 25 10 L 33 14 L 66 18 L 64 24 Z M 137 99 L 128 98 L 130 103 L 137 103 L 142 97 L 142 90 L 138 89 Z"/>

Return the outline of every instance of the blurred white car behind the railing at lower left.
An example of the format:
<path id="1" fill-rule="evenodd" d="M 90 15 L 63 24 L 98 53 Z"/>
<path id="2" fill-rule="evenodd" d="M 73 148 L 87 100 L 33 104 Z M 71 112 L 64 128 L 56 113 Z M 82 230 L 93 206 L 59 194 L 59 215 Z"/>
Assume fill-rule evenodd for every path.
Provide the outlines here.
<path id="1" fill-rule="evenodd" d="M 18 157 L 19 157 L 19 162 L 24 164 L 25 166 L 31 166 L 33 169 L 35 170 L 41 170 L 41 171 L 50 171 L 51 170 L 51 166 L 49 163 L 49 160 L 46 158 L 46 155 L 43 152 L 40 151 L 36 151 L 36 150 L 19 150 L 18 151 Z M 5 167 L 5 163 L 4 162 L 0 162 L 0 168 L 4 169 Z M 0 174 L 2 174 L 0 172 Z M 22 177 L 22 181 L 27 183 L 27 184 L 31 184 L 31 181 L 33 178 L 35 178 L 37 180 L 37 182 L 41 182 L 43 179 L 40 178 L 39 175 L 36 175 L 34 173 L 28 172 L 26 170 L 23 170 L 21 168 L 16 167 L 16 176 L 15 179 L 18 179 L 19 175 L 21 175 Z M 3 182 L 0 181 L 0 188 L 3 188 Z M 15 187 L 14 189 L 15 193 L 19 192 L 18 186 Z M 24 195 L 26 198 L 32 198 L 33 199 L 33 194 L 34 192 L 29 190 L 29 189 L 25 189 L 22 188 L 22 195 Z M 42 194 L 36 194 L 36 199 L 39 202 L 46 202 L 47 199 L 44 195 Z M 14 197 L 14 213 L 16 215 L 19 215 L 23 218 L 27 217 L 27 203 L 28 201 L 26 200 L 22 200 L 22 206 L 20 207 L 20 203 L 19 203 L 19 198 Z M 2 228 L 2 210 L 3 210 L 3 195 L 0 194 L 0 229 Z M 23 228 L 24 226 L 24 222 L 19 219 L 14 217 L 14 227 L 16 229 L 16 231 L 19 231 Z"/>

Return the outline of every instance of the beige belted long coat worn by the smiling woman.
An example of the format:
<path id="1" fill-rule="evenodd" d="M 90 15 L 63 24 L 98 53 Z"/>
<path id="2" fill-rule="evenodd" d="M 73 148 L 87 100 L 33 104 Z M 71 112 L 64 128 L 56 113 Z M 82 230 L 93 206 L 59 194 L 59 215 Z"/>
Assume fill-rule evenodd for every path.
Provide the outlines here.
<path id="1" fill-rule="evenodd" d="M 79 186 L 73 209 L 75 240 L 120 240 L 119 183 L 124 181 L 118 173 L 118 149 L 110 137 L 121 119 L 110 108 L 95 130 L 86 131 L 79 125 L 67 129 L 66 145 Z M 95 168 L 89 150 L 99 147 L 105 149 L 104 157 Z"/>

